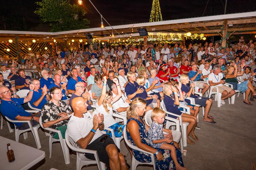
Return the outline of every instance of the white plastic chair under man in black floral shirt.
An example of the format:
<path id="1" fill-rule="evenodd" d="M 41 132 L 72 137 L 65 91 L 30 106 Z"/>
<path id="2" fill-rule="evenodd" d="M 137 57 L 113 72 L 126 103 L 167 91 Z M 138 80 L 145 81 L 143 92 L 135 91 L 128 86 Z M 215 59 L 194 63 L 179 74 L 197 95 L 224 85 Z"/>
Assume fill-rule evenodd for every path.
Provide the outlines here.
<path id="1" fill-rule="evenodd" d="M 39 118 L 39 124 L 41 126 L 41 128 L 45 129 L 45 130 L 49 130 L 55 133 L 58 133 L 59 138 L 60 139 L 54 139 L 52 137 L 52 135 L 49 135 L 49 150 L 50 150 L 50 156 L 49 158 L 52 157 L 52 143 L 53 142 L 60 142 L 60 146 L 63 152 L 63 156 L 64 156 L 64 160 L 65 160 L 65 164 L 69 164 L 70 163 L 70 159 L 69 159 L 69 150 L 68 150 L 68 146 L 66 144 L 65 139 L 62 138 L 61 132 L 60 130 L 57 129 L 52 129 L 52 128 L 44 128 L 43 123 L 42 123 L 42 116 L 40 116 Z"/>

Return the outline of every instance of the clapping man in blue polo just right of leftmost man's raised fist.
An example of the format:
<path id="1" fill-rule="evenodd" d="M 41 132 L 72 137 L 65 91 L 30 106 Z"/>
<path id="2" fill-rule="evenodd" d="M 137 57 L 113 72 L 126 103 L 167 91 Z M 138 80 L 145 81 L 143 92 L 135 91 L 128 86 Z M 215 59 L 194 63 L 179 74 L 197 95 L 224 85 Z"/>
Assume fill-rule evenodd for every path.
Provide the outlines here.
<path id="1" fill-rule="evenodd" d="M 30 83 L 35 85 L 33 97 L 29 102 L 32 107 L 42 109 L 47 100 L 50 100 L 50 96 L 47 94 L 47 87 L 44 85 L 43 90 L 40 89 L 40 81 L 36 78 L 32 78 Z"/>

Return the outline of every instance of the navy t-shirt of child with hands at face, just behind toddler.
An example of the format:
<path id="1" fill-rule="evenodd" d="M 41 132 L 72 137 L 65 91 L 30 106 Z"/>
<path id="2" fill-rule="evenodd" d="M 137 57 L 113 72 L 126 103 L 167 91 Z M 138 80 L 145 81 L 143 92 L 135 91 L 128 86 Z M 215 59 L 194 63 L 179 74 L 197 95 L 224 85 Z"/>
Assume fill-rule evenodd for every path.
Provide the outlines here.
<path id="1" fill-rule="evenodd" d="M 176 115 L 181 115 L 182 112 L 180 112 L 178 106 L 175 105 L 175 100 L 173 100 L 170 96 L 166 96 L 164 95 L 164 105 L 165 105 L 165 108 L 166 108 L 166 111 L 167 112 L 171 112 L 171 113 L 174 113 Z M 172 117 L 174 119 L 177 119 L 176 116 L 173 116 L 173 115 L 168 115 L 169 117 Z"/>

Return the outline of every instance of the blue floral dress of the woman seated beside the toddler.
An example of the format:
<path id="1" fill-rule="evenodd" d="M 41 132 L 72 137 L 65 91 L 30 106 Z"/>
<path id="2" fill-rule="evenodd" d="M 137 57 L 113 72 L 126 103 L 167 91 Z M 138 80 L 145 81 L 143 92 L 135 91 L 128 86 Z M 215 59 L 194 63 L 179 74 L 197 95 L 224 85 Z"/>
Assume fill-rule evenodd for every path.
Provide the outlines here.
<path id="1" fill-rule="evenodd" d="M 141 117 L 140 117 L 140 119 L 141 119 Z M 145 123 L 143 122 L 143 120 L 141 119 L 141 121 L 143 122 L 143 123 L 141 123 L 137 119 L 130 118 L 127 121 L 127 124 L 131 120 L 136 121 L 138 123 L 138 125 L 139 125 L 139 132 L 140 132 L 141 142 L 143 144 L 147 144 L 148 146 L 152 147 L 149 144 L 149 142 L 148 142 L 148 136 L 146 134 L 147 133 L 146 132 L 146 126 L 145 126 Z M 130 133 L 126 131 L 126 134 L 127 134 L 128 141 L 131 144 L 133 144 L 134 146 L 136 146 L 136 144 L 132 140 L 132 137 L 131 137 Z M 156 160 L 156 169 L 157 170 L 167 170 L 167 169 L 174 170 L 174 169 L 176 169 L 175 168 L 175 164 L 173 163 L 170 151 L 169 150 L 160 149 L 160 148 L 158 148 L 157 150 L 162 153 L 164 159 L 161 160 L 161 161 L 158 161 L 156 159 L 156 155 L 154 155 L 155 156 L 155 160 Z M 140 151 L 137 151 L 137 150 L 133 150 L 133 149 L 132 149 L 132 153 L 133 153 L 134 158 L 136 160 L 138 160 L 139 162 L 142 162 L 142 163 L 151 162 L 151 157 L 147 153 L 143 153 L 143 152 L 140 152 Z M 182 161 L 182 157 L 181 157 L 181 152 L 177 148 L 176 148 L 176 155 L 177 155 L 177 160 L 180 163 L 180 166 L 184 167 L 183 161 Z"/>

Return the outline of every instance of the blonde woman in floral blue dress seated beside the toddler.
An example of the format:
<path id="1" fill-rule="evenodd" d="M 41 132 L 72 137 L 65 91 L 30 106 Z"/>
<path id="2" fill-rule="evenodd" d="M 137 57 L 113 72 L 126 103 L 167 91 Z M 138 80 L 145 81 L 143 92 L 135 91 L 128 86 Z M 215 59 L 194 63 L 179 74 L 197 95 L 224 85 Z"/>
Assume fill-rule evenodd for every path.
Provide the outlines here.
<path id="1" fill-rule="evenodd" d="M 172 161 L 170 151 L 164 149 L 155 149 L 151 147 L 148 142 L 147 130 L 149 129 L 148 125 L 142 120 L 146 110 L 146 101 L 137 97 L 132 100 L 131 106 L 127 109 L 127 125 L 126 133 L 129 142 L 138 148 L 151 152 L 155 154 L 156 159 L 156 169 L 157 170 L 174 170 L 175 165 Z M 147 153 L 143 153 L 137 150 L 132 150 L 133 156 L 136 160 L 142 163 L 151 162 L 151 157 Z M 177 160 L 180 162 L 181 166 L 183 165 L 181 152 L 176 148 Z"/>

